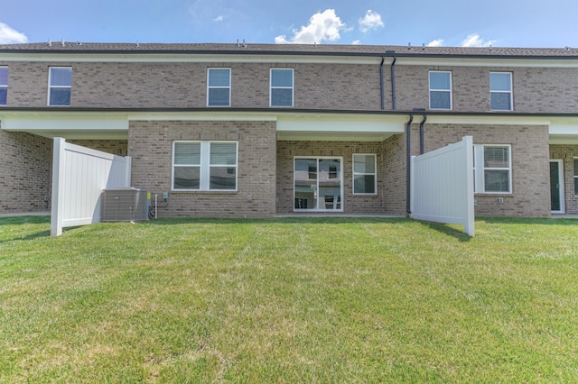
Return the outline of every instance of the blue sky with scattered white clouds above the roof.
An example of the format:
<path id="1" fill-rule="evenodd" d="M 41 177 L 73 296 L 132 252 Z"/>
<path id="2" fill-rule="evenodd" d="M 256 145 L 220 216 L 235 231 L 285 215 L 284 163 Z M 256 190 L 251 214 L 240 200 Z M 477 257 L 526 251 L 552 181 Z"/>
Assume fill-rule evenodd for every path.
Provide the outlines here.
<path id="1" fill-rule="evenodd" d="M 578 47 L 576 0 L 3 0 L 0 43 Z"/>

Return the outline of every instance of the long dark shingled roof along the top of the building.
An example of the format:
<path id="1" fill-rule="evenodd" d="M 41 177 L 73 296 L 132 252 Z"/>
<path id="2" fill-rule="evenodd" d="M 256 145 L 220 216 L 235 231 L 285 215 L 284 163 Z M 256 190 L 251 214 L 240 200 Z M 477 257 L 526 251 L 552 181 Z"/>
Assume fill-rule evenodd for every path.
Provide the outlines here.
<path id="1" fill-rule="evenodd" d="M 398 56 L 578 59 L 575 48 L 503 48 L 503 47 L 424 47 L 395 45 L 340 44 L 253 44 L 253 43 L 101 43 L 46 41 L 25 44 L 0 44 L 0 53 L 123 53 L 123 54 L 273 54 L 322 56 Z"/>

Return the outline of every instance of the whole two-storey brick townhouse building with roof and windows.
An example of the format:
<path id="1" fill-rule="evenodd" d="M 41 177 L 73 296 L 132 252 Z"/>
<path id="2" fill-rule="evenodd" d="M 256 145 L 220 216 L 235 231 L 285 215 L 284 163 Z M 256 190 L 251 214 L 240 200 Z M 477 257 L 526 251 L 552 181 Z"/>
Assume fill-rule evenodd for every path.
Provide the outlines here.
<path id="1" fill-rule="evenodd" d="M 58 136 L 161 217 L 406 215 L 408 143 L 471 135 L 476 215 L 578 215 L 573 49 L 0 45 L 0 124 L 0 214 L 50 208 Z"/>

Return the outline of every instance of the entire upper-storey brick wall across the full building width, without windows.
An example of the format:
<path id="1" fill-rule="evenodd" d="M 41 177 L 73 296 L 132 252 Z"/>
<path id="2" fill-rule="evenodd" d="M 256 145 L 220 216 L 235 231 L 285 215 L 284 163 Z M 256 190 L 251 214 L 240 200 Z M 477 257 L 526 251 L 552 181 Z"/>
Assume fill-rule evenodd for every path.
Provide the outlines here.
<path id="1" fill-rule="evenodd" d="M 323 63 L 3 62 L 9 67 L 8 106 L 46 106 L 48 69 L 72 67 L 72 106 L 205 107 L 207 69 L 231 69 L 231 106 L 269 106 L 269 69 L 294 69 L 294 107 L 378 110 L 379 65 Z M 452 72 L 453 111 L 489 112 L 489 72 L 512 72 L 514 111 L 567 113 L 578 108 L 575 68 L 455 67 L 396 64 L 396 109 L 429 108 L 429 70 Z M 331 75 L 331 76 L 330 76 Z M 384 102 L 391 76 L 384 67 Z"/>

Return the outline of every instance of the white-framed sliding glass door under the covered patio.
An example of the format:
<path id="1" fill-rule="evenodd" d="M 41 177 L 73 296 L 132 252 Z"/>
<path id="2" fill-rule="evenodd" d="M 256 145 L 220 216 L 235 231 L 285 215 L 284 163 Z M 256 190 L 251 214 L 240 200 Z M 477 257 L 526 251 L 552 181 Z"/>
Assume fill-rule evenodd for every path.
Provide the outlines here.
<path id="1" fill-rule="evenodd" d="M 340 158 L 294 159 L 294 210 L 342 211 Z"/>

